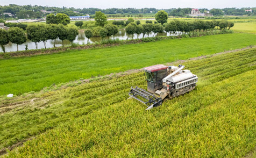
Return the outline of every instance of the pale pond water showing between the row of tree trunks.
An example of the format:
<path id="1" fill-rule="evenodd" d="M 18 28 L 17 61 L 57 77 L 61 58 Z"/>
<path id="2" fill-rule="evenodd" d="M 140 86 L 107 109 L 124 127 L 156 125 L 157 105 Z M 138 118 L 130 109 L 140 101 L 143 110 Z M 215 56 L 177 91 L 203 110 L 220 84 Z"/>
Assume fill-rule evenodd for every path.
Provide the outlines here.
<path id="1" fill-rule="evenodd" d="M 175 34 L 175 35 L 180 35 L 181 33 L 178 33 L 178 34 Z M 149 34 L 149 37 L 153 37 L 154 33 L 150 33 Z M 169 33 L 166 33 L 166 32 L 163 32 L 163 33 L 158 33 L 158 34 L 155 34 L 154 37 L 156 36 L 160 36 L 160 35 L 174 35 L 174 34 L 169 34 Z M 148 37 L 147 34 L 145 34 L 145 37 Z M 125 30 L 119 30 L 118 33 L 115 35 L 115 39 L 119 39 L 119 40 L 126 40 L 127 39 L 127 34 L 125 32 Z M 131 39 L 132 36 L 129 35 L 129 39 Z M 133 35 L 133 39 L 136 39 L 137 38 L 137 35 Z M 140 34 L 138 38 L 143 38 L 143 34 Z M 108 38 L 105 38 L 105 39 L 108 39 Z M 113 39 L 113 37 L 110 37 L 109 39 Z M 79 35 L 77 35 L 76 39 L 74 40 L 74 43 L 76 44 L 87 44 L 87 41 L 88 39 L 86 38 L 86 36 L 84 35 L 83 32 L 79 32 Z M 90 38 L 89 42 L 90 43 L 94 43 L 94 42 L 99 42 L 101 41 L 101 38 L 100 37 L 93 37 L 93 38 Z M 66 45 L 71 45 L 71 42 L 69 42 L 68 40 L 64 40 L 63 41 L 63 44 L 66 46 Z M 25 42 L 25 44 L 23 45 L 19 45 L 19 51 L 24 51 L 25 48 L 26 48 L 26 45 L 27 45 L 27 48 L 28 49 L 35 49 L 35 44 L 34 42 L 31 42 L 30 40 L 27 40 Z M 55 46 L 56 47 L 60 47 L 62 46 L 62 41 L 59 40 L 59 39 L 56 39 L 55 40 Z M 53 47 L 53 40 L 47 40 L 46 41 L 46 48 L 52 48 Z M 38 48 L 45 48 L 44 46 L 44 42 L 39 42 L 38 43 Z M 8 44 L 8 45 L 5 45 L 5 51 L 6 52 L 15 52 L 17 51 L 17 45 L 16 44 L 12 44 L 11 42 Z M 2 52 L 2 49 L 1 51 Z"/>

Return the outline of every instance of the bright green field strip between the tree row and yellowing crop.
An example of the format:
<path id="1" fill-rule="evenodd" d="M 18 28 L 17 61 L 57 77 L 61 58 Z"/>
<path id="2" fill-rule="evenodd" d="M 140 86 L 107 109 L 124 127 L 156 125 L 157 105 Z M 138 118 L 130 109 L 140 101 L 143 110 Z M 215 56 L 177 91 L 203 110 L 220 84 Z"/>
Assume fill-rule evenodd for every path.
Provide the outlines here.
<path id="1" fill-rule="evenodd" d="M 81 77 L 90 78 L 243 48 L 254 45 L 255 37 L 254 34 L 243 33 L 219 34 L 198 38 L 167 39 L 156 41 L 153 45 L 148 42 L 72 50 L 30 58 L 1 59 L 0 95 L 20 95 Z"/>

